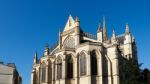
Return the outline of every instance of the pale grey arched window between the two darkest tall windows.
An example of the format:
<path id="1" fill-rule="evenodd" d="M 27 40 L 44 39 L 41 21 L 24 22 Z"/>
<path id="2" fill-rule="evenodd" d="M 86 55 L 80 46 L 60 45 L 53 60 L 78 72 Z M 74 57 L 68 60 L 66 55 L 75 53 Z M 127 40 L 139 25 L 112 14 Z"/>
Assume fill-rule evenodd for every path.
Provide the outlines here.
<path id="1" fill-rule="evenodd" d="M 80 76 L 86 75 L 86 55 L 85 53 L 80 54 Z"/>

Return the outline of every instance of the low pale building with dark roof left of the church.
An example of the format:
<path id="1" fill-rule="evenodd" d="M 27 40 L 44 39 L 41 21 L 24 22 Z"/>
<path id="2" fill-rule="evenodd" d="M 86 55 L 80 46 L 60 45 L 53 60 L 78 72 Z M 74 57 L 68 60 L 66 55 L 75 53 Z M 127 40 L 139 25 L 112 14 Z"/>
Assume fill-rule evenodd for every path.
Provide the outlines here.
<path id="1" fill-rule="evenodd" d="M 0 62 L 0 84 L 22 84 L 22 78 L 14 63 Z"/>

